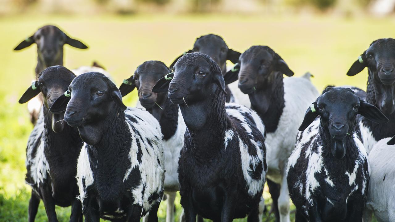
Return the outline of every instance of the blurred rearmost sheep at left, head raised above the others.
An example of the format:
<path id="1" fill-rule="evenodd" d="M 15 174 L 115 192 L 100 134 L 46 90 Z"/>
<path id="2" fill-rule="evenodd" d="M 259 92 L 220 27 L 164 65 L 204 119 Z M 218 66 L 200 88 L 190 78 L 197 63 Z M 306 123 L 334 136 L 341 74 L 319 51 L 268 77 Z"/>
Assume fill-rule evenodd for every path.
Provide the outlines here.
<path id="1" fill-rule="evenodd" d="M 78 49 L 88 47 L 79 40 L 75 40 L 66 35 L 62 30 L 53 25 L 46 25 L 39 28 L 32 36 L 23 40 L 15 51 L 29 47 L 33 43 L 37 44 L 37 66 L 35 69 L 36 80 L 38 74 L 49 66 L 63 66 L 63 45 L 68 44 Z M 42 96 L 38 96 L 28 103 L 30 121 L 35 124 L 43 104 Z"/>

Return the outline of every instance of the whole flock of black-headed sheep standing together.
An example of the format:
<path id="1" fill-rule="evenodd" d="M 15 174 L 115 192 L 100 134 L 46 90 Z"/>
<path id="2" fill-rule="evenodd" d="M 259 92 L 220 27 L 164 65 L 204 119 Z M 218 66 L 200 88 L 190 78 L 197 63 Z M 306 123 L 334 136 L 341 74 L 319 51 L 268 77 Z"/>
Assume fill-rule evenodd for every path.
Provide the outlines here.
<path id="1" fill-rule="evenodd" d="M 258 222 L 265 181 L 277 221 L 290 221 L 290 198 L 296 222 L 395 221 L 394 39 L 373 41 L 348 71 L 368 68 L 366 92 L 322 94 L 270 47 L 239 53 L 213 34 L 169 67 L 143 62 L 119 88 L 97 64 L 65 68 L 63 45 L 87 46 L 56 26 L 15 50 L 33 43 L 36 81 L 19 100 L 34 124 L 29 221 L 42 200 L 49 221 L 71 205 L 70 221 L 157 222 L 166 197 L 174 222 L 179 191 L 180 221 Z M 122 102 L 135 88 L 143 108 Z"/>

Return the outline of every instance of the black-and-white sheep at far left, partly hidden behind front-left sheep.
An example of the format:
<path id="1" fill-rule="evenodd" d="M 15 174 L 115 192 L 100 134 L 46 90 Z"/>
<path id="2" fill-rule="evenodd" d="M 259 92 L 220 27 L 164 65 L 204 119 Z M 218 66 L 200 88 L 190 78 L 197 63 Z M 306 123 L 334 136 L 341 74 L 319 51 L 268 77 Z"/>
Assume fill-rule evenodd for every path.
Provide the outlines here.
<path id="1" fill-rule="evenodd" d="M 43 93 L 41 118 L 31 132 L 26 148 L 26 183 L 32 187 L 28 221 L 34 221 L 40 199 L 44 202 L 49 221 L 57 221 L 55 205 L 71 205 L 70 221 L 82 221 L 81 203 L 75 198 L 77 158 L 83 142 L 78 130 L 63 121 L 63 112 L 51 113 L 55 102 L 75 75 L 63 66 L 50 66 L 23 94 L 19 103 L 26 103 Z"/>

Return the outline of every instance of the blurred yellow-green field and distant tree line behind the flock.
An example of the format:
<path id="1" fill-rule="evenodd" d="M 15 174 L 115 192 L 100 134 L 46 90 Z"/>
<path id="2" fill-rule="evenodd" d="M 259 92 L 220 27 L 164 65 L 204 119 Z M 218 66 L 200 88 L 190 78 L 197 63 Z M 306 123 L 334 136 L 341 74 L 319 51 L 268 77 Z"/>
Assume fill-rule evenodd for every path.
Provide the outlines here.
<path id="1" fill-rule="evenodd" d="M 24 160 L 32 124 L 27 105 L 17 101 L 34 79 L 37 53 L 35 44 L 13 48 L 41 26 L 54 24 L 89 46 L 65 45 L 64 66 L 96 61 L 117 85 L 144 61 L 169 65 L 192 49 L 197 37 L 214 33 L 240 52 L 270 46 L 296 76 L 310 71 L 318 90 L 326 85 L 365 89 L 366 70 L 354 77 L 346 72 L 373 40 L 395 36 L 394 9 L 395 0 L 0 0 L 0 221 L 27 220 Z M 134 106 L 136 98 L 134 92 L 124 103 Z M 264 197 L 269 211 L 266 187 Z M 180 209 L 178 204 L 177 216 Z M 60 221 L 68 221 L 70 208 L 56 211 Z M 36 221 L 46 220 L 41 203 Z M 274 221 L 273 216 L 267 212 L 263 221 Z"/>

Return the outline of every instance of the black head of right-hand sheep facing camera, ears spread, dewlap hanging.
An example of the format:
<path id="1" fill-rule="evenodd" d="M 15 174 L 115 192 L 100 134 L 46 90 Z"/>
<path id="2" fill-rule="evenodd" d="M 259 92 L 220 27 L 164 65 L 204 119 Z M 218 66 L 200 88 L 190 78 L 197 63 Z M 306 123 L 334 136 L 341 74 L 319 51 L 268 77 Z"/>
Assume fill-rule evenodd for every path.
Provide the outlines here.
<path id="1" fill-rule="evenodd" d="M 320 115 L 323 135 L 330 136 L 331 153 L 342 159 L 346 154 L 346 137 L 354 134 L 357 114 L 373 122 L 388 122 L 377 107 L 360 100 L 350 88 L 328 87 L 307 110 L 299 130 L 305 130 Z"/>

